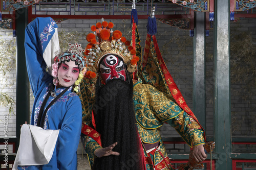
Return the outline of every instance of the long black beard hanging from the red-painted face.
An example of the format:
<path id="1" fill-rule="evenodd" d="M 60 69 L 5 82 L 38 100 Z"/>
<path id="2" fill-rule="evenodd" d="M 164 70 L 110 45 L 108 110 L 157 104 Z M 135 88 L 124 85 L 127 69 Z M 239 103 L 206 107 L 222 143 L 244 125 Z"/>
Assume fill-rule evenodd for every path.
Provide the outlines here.
<path id="1" fill-rule="evenodd" d="M 120 155 L 95 158 L 93 169 L 143 169 L 135 125 L 133 83 L 114 79 L 101 88 L 96 86 L 95 99 L 95 124 L 101 134 L 102 147 L 118 142 L 113 151 Z"/>

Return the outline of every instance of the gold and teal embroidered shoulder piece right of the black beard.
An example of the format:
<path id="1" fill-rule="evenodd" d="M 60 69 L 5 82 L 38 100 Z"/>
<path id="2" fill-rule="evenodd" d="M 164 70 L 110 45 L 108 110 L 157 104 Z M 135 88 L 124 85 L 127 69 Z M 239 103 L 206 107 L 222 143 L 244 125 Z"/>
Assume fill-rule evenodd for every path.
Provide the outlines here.
<path id="1" fill-rule="evenodd" d="M 164 93 L 147 84 L 134 87 L 134 110 L 138 123 L 144 128 L 158 128 L 177 116 L 182 109 Z"/>

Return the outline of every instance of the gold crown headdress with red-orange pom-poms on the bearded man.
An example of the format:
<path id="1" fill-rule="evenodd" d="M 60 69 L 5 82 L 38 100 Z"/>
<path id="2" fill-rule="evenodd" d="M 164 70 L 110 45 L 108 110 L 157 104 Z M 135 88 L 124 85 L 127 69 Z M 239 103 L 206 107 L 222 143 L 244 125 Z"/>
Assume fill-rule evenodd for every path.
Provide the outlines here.
<path id="1" fill-rule="evenodd" d="M 131 42 L 122 36 L 121 31 L 113 31 L 113 26 L 112 22 L 108 23 L 102 19 L 102 23 L 98 22 L 96 26 L 91 27 L 94 34 L 89 33 L 87 35 L 86 39 L 90 43 L 84 52 L 88 56 L 89 65 L 98 71 L 102 58 L 108 54 L 116 54 L 123 59 L 127 65 L 127 70 L 134 72 L 137 69 L 136 63 L 139 61 L 139 57 L 135 56 L 136 51 L 131 46 Z"/>

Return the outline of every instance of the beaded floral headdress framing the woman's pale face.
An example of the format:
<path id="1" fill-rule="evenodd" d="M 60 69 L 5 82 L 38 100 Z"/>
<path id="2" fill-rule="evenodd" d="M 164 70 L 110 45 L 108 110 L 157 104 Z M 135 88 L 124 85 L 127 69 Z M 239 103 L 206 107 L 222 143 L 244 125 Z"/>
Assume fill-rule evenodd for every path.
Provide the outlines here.
<path id="1" fill-rule="evenodd" d="M 74 91 L 78 92 L 78 85 L 82 81 L 82 78 L 84 74 L 86 74 L 87 68 L 87 59 L 83 56 L 84 49 L 82 49 L 80 44 L 70 44 L 69 43 L 69 50 L 68 51 L 62 51 L 59 50 L 56 54 L 56 57 L 54 58 L 54 63 L 52 64 L 52 76 L 53 76 L 53 83 L 54 85 L 57 85 L 58 82 L 58 65 L 61 62 L 66 61 L 74 61 L 76 65 L 78 65 L 79 68 L 79 76 L 78 79 L 75 81 Z"/>

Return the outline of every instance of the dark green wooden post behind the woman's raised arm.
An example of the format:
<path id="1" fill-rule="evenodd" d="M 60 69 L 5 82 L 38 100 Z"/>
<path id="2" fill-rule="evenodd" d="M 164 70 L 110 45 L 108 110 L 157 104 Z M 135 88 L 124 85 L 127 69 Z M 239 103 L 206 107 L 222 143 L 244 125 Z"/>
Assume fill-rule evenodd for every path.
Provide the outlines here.
<path id="1" fill-rule="evenodd" d="M 29 123 L 29 80 L 25 59 L 25 28 L 27 26 L 27 8 L 18 9 L 16 14 L 16 151 L 19 145 L 20 125 Z"/>

